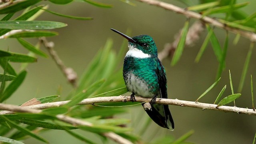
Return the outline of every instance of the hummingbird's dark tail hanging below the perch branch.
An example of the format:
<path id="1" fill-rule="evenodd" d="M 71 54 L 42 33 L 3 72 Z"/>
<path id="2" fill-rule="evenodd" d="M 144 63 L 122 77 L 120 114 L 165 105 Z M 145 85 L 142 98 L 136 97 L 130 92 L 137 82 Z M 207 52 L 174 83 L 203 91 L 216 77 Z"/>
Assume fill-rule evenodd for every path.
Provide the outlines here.
<path id="1" fill-rule="evenodd" d="M 142 106 L 145 103 L 142 104 Z M 148 116 L 159 126 L 174 130 L 174 122 L 168 105 L 151 104 L 151 110 L 146 109 Z"/>

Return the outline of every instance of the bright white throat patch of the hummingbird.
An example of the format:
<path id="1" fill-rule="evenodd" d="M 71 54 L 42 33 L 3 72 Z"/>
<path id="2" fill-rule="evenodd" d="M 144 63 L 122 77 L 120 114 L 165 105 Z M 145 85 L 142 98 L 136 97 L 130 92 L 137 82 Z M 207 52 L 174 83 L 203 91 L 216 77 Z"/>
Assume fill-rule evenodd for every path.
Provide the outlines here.
<path id="1" fill-rule="evenodd" d="M 130 44 L 128 45 L 128 52 L 126 53 L 125 57 L 134 57 L 134 58 L 150 58 L 150 54 L 145 54 L 142 50 L 138 48 L 134 48 Z"/>

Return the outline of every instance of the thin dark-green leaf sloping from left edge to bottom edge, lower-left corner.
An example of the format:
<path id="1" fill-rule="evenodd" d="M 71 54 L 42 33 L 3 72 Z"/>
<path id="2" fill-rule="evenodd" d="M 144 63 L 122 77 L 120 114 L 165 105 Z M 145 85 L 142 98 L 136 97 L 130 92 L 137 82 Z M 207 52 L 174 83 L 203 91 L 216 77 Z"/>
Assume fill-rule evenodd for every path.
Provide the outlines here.
<path id="1" fill-rule="evenodd" d="M 49 143 L 47 140 L 45 140 L 44 138 L 42 138 L 41 136 L 37 135 L 37 134 L 34 134 L 33 132 L 31 132 L 30 130 L 26 129 L 26 128 L 23 128 L 22 126 L 16 124 L 15 122 L 9 120 L 8 118 L 6 118 L 5 116 L 0 116 L 2 118 L 4 118 L 8 124 L 10 124 L 11 126 L 13 126 L 14 128 L 16 128 L 17 130 L 20 130 L 21 132 L 25 133 L 25 134 L 28 134 L 29 136 L 32 136 L 33 138 L 36 138 L 37 140 L 40 140 L 42 142 L 45 142 L 45 143 Z"/>

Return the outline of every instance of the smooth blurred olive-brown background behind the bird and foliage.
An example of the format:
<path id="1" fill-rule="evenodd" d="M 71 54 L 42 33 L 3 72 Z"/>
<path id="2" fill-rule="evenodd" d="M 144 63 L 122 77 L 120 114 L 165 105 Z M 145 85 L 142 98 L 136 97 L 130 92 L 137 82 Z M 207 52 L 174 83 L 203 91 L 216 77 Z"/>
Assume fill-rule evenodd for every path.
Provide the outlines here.
<path id="1" fill-rule="evenodd" d="M 186 6 L 178 0 L 163 0 L 185 8 Z M 255 11 L 255 0 L 238 0 L 239 2 L 250 2 L 244 10 L 247 14 Z M 56 5 L 48 1 L 40 4 L 49 4 L 49 10 L 62 14 L 74 16 L 91 16 L 94 20 L 80 21 L 68 18 L 62 18 L 44 12 L 37 20 L 50 20 L 64 22 L 67 27 L 56 29 L 59 36 L 48 38 L 53 41 L 54 49 L 58 52 L 60 58 L 66 66 L 72 67 L 78 74 L 78 77 L 86 69 L 86 66 L 92 60 L 94 55 L 102 48 L 108 38 L 114 40 L 114 49 L 119 50 L 123 38 L 112 32 L 110 28 L 115 28 L 120 32 L 126 32 L 129 28 L 132 31 L 131 36 L 148 34 L 154 38 L 158 51 L 161 51 L 164 44 L 172 42 L 174 35 L 183 27 L 186 20 L 185 16 L 176 14 L 150 6 L 148 4 L 132 1 L 136 6 L 131 6 L 119 0 L 98 0 L 113 4 L 113 8 L 98 8 L 84 2 L 72 2 L 67 5 Z M 197 0 L 193 1 L 198 4 Z M 194 20 L 191 20 L 192 24 Z M 225 31 L 215 28 L 214 30 L 220 43 L 223 44 Z M 166 68 L 168 80 L 168 97 L 172 99 L 195 101 L 212 83 L 214 83 L 218 62 L 214 56 L 213 50 L 208 45 L 202 59 L 198 64 L 194 62 L 196 54 L 204 41 L 207 32 L 205 31 L 200 40 L 194 46 L 186 47 L 181 60 L 174 67 L 170 66 L 170 58 L 163 60 Z M 237 45 L 233 45 L 234 34 L 230 34 L 230 42 L 226 56 L 226 70 L 222 73 L 222 78 L 218 85 L 210 91 L 199 102 L 213 103 L 218 93 L 227 85 L 224 96 L 231 94 L 228 70 L 231 71 L 234 91 L 237 92 L 242 68 L 249 49 L 250 41 L 240 38 Z M 27 39 L 36 44 L 36 39 Z M 0 41 L 1 48 L 9 49 L 11 52 L 27 53 L 15 39 Z M 44 49 L 44 51 L 46 51 Z M 250 94 L 250 74 L 253 76 L 253 82 L 256 85 L 256 68 L 254 62 L 256 49 L 254 48 L 248 73 L 246 76 L 242 96 L 236 100 L 236 106 L 243 108 L 252 108 Z M 120 62 L 122 67 L 122 62 Z M 18 69 L 19 64 L 14 64 Z M 37 63 L 29 64 L 27 77 L 22 86 L 7 100 L 8 104 L 24 103 L 32 98 L 40 98 L 52 94 L 58 94 L 61 87 L 60 100 L 64 100 L 67 94 L 72 90 L 66 78 L 60 72 L 51 58 L 38 58 Z M 232 106 L 233 103 L 230 104 Z M 131 119 L 130 126 L 136 128 L 146 121 L 148 115 L 141 106 L 127 107 L 129 113 L 118 115 L 116 117 L 125 117 Z M 194 134 L 188 139 L 190 142 L 199 144 L 248 144 L 252 143 L 256 132 L 255 116 L 225 113 L 212 110 L 200 110 L 197 108 L 187 108 L 180 106 L 170 106 L 172 116 L 175 122 L 175 130 L 170 132 L 159 127 L 152 122 L 142 137 L 144 140 L 154 140 L 164 135 L 178 138 L 190 130 Z M 87 134 L 87 133 L 82 133 Z M 89 134 L 89 136 L 92 134 Z M 80 144 L 79 140 L 68 135 L 61 130 L 51 130 L 44 132 L 43 137 L 48 139 L 51 144 Z M 93 136 L 93 135 L 92 135 Z M 99 141 L 99 140 L 96 140 Z M 29 138 L 24 143 L 40 143 L 33 138 Z"/>

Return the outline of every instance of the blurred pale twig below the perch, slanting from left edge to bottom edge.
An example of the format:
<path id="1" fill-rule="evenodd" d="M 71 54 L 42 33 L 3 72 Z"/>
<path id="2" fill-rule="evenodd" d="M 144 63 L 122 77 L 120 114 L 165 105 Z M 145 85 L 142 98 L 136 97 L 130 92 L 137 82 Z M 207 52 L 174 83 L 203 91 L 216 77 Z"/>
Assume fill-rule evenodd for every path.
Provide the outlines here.
<path id="1" fill-rule="evenodd" d="M 0 110 L 12 110 L 12 112 L 26 112 L 26 113 L 32 113 L 32 114 L 38 114 L 38 113 L 42 112 L 42 110 L 28 108 L 28 106 L 20 107 L 20 106 L 14 106 L 11 104 L 2 104 L 2 103 L 0 103 Z M 77 118 L 72 118 L 72 117 L 66 116 L 64 114 L 58 114 L 58 115 L 56 115 L 56 118 L 58 118 L 58 120 L 67 122 L 74 126 L 78 126 L 78 125 L 93 126 L 93 124 L 90 122 L 86 122 L 84 120 L 80 120 Z M 102 135 L 106 136 L 107 138 L 109 138 L 119 144 L 132 144 L 132 142 L 123 138 L 122 136 L 119 136 L 118 134 L 115 134 L 114 132 L 104 132 L 104 133 L 102 133 Z"/>

